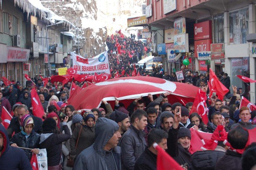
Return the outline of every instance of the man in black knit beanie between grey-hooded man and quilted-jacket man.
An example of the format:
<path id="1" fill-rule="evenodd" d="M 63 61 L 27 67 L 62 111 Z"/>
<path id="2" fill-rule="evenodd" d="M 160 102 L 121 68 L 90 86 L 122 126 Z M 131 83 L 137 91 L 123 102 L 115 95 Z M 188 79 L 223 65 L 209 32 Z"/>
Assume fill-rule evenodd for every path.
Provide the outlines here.
<path id="1" fill-rule="evenodd" d="M 123 134 L 130 128 L 130 120 L 127 114 L 115 110 L 111 113 L 110 119 L 117 122 L 119 128 L 118 131 L 123 136 Z"/>

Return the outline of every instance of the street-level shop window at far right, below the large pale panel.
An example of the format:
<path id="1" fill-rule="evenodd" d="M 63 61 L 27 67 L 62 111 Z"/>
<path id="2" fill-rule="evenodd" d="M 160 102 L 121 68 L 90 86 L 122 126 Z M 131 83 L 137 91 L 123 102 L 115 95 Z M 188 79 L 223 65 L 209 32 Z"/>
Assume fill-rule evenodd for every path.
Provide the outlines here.
<path id="1" fill-rule="evenodd" d="M 245 85 L 236 75 L 250 77 L 249 57 L 230 59 L 230 90 L 232 90 L 233 85 L 242 87 L 244 91 Z"/>

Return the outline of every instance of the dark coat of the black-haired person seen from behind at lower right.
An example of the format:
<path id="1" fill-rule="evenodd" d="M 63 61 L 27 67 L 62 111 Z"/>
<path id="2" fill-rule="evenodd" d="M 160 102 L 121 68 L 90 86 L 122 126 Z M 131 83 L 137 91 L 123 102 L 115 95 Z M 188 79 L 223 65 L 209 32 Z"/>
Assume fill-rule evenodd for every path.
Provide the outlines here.
<path id="1" fill-rule="evenodd" d="M 241 154 L 227 150 L 226 154 L 218 159 L 214 170 L 242 170 L 241 157 Z"/>

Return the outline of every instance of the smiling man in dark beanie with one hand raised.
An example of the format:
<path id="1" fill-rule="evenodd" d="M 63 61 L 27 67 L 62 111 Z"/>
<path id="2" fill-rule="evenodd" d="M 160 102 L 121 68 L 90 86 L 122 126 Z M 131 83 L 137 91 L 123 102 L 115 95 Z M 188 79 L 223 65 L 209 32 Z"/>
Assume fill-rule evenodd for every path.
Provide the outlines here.
<path id="1" fill-rule="evenodd" d="M 179 127 L 182 119 L 180 112 L 181 108 L 178 111 L 174 111 L 173 126 L 168 132 L 167 153 L 180 165 L 187 163 L 187 169 L 189 169 L 191 167 L 191 154 L 188 150 L 190 148 L 191 132 L 188 128 Z"/>

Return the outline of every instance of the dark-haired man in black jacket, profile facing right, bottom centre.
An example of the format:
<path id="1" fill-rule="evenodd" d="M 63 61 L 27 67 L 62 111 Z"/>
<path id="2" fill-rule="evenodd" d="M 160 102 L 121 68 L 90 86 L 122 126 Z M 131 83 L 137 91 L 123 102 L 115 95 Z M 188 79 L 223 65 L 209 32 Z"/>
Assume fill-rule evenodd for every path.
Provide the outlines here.
<path id="1" fill-rule="evenodd" d="M 156 142 L 162 149 L 167 149 L 168 134 L 164 130 L 152 129 L 147 137 L 148 148 L 136 160 L 134 169 L 152 170 L 156 169 L 157 150 L 153 147 Z"/>

